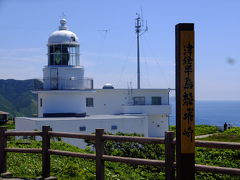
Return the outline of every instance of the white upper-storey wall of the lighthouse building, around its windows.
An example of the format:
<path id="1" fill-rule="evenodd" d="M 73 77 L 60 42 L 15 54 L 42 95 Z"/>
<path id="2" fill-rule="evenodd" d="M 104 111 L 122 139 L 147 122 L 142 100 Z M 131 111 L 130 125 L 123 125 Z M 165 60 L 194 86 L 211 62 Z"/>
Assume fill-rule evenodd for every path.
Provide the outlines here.
<path id="1" fill-rule="evenodd" d="M 39 116 L 43 113 L 87 112 L 87 115 L 96 114 L 168 114 L 171 106 L 168 104 L 167 89 L 96 89 L 94 91 L 58 90 L 39 91 L 43 105 L 39 107 Z M 132 98 L 144 96 L 147 105 L 132 105 Z M 161 96 L 162 105 L 150 105 L 152 96 Z M 94 99 L 93 107 L 86 107 L 86 98 Z M 40 103 L 40 100 L 39 100 Z"/>

